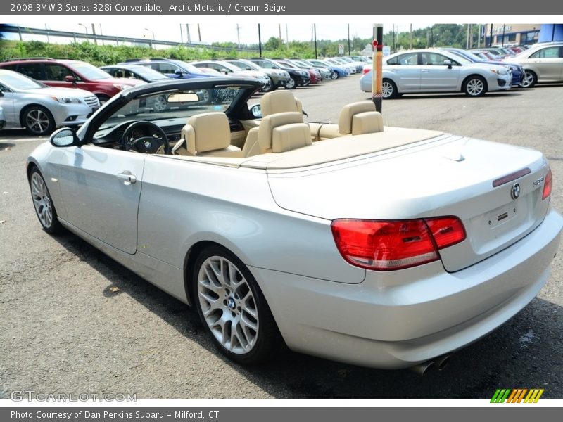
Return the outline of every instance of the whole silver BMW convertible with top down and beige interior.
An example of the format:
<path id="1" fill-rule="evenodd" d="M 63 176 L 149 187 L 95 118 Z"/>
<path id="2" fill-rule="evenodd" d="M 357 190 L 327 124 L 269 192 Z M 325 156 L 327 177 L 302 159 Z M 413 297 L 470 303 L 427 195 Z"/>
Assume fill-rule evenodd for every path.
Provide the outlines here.
<path id="1" fill-rule="evenodd" d="M 369 101 L 338 124 L 304 122 L 290 91 L 249 110 L 257 82 L 209 79 L 123 91 L 27 174 L 46 231 L 195 307 L 228 357 L 283 340 L 362 366 L 443 362 L 548 280 L 563 219 L 542 153 L 384 127 Z"/>

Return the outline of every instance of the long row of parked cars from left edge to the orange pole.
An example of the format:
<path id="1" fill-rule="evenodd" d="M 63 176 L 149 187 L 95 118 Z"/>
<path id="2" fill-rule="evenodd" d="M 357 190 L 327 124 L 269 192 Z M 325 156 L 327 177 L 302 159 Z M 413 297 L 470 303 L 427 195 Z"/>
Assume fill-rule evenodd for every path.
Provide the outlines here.
<path id="1" fill-rule="evenodd" d="M 169 78 L 251 77 L 260 91 L 295 89 L 362 72 L 367 60 L 237 58 L 186 63 L 167 58 L 132 58 L 96 68 L 80 60 L 21 58 L 0 63 L 0 129 L 25 127 L 35 136 L 58 126 L 84 123 L 123 89 Z M 205 101 L 205 92 L 202 93 Z M 209 98 L 208 98 L 209 99 Z"/>

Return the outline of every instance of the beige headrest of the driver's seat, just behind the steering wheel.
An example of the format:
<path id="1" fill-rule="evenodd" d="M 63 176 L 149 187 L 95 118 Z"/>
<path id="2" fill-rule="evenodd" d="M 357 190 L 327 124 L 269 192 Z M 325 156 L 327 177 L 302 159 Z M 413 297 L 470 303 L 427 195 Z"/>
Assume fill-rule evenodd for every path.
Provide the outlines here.
<path id="1" fill-rule="evenodd" d="M 188 143 L 188 152 L 194 155 L 228 148 L 231 144 L 229 119 L 219 112 L 191 116 L 182 129 L 182 138 Z"/>

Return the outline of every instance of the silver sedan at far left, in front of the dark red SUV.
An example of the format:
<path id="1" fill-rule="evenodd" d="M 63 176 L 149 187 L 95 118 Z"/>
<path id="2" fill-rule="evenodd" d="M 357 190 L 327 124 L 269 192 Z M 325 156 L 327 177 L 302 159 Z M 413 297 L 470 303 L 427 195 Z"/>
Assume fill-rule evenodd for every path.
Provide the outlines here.
<path id="1" fill-rule="evenodd" d="M 41 136 L 57 126 L 86 122 L 100 104 L 88 91 L 47 87 L 18 72 L 0 69 L 0 106 L 6 127 L 25 127 L 30 134 Z"/>

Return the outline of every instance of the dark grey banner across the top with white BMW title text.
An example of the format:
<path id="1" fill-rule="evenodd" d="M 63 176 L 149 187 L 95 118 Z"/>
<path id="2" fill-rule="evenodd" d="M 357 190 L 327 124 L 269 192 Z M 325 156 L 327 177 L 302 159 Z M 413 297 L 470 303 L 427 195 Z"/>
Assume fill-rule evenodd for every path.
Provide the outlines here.
<path id="1" fill-rule="evenodd" d="M 416 15 L 448 16 L 475 15 L 475 11 L 486 15 L 504 17 L 507 13 L 514 16 L 563 15 L 563 2 L 553 0 L 533 1 L 511 0 L 491 2 L 487 0 L 451 1 L 365 1 L 335 0 L 301 1 L 182 1 L 182 0 L 8 0 L 0 4 L 0 15 Z M 559 17 L 559 21 L 561 17 Z"/>

